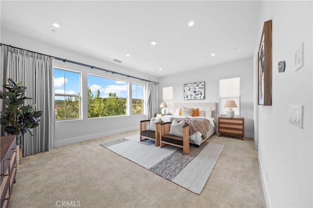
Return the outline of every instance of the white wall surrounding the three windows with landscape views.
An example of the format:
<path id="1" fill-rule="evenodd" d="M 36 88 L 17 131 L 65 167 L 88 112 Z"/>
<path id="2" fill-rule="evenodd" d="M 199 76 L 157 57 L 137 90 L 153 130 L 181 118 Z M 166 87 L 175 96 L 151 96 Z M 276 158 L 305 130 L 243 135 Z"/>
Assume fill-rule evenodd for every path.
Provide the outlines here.
<path id="1" fill-rule="evenodd" d="M 97 66 L 111 71 L 132 75 L 144 78 L 151 81 L 157 81 L 156 77 L 145 75 L 122 66 L 118 66 L 103 60 L 99 60 L 87 55 L 79 54 L 46 42 L 42 42 L 33 38 L 22 36 L 20 34 L 12 33 L 10 31 L 1 30 L 1 43 L 19 47 L 22 49 L 43 53 L 46 55 L 61 57 L 72 61 Z M 121 64 L 122 65 L 122 64 Z M 108 74 L 106 72 L 73 65 L 82 72 L 82 96 L 87 95 L 87 75 L 92 73 L 100 76 L 110 76 L 112 78 L 119 78 L 125 81 L 132 81 L 136 83 L 143 83 L 138 79 L 131 79 L 126 76 L 117 76 Z M 86 99 L 85 99 L 86 101 Z M 125 115 L 113 116 L 104 118 L 88 118 L 87 101 L 83 103 L 83 119 L 71 121 L 57 121 L 55 127 L 55 142 L 54 145 L 62 146 L 79 141 L 89 140 L 104 135 L 110 135 L 118 132 L 127 132 L 139 129 L 139 121 L 144 119 L 144 115 Z"/>

